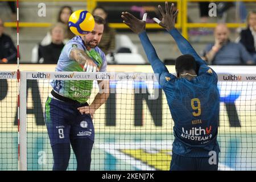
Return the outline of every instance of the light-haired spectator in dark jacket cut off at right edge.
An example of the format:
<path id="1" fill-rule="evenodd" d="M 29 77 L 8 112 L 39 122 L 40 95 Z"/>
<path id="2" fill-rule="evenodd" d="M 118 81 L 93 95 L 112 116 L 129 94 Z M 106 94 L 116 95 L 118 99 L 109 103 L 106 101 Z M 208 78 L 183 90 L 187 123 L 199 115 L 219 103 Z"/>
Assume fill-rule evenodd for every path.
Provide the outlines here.
<path id="1" fill-rule="evenodd" d="M 256 63 L 256 11 L 250 11 L 247 16 L 247 28 L 241 31 L 240 43 L 245 46 L 247 51 L 253 56 Z"/>

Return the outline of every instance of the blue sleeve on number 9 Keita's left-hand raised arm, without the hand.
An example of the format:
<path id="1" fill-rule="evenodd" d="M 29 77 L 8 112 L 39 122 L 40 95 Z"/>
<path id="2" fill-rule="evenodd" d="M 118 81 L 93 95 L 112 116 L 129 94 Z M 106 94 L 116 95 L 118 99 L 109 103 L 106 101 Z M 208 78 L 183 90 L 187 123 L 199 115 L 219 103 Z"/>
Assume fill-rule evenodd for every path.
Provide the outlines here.
<path id="1" fill-rule="evenodd" d="M 155 48 L 152 46 L 145 31 L 139 34 L 139 39 L 141 39 L 142 46 L 147 55 L 148 61 L 154 70 L 154 73 L 160 74 L 162 72 L 168 72 L 168 69 L 156 54 Z"/>

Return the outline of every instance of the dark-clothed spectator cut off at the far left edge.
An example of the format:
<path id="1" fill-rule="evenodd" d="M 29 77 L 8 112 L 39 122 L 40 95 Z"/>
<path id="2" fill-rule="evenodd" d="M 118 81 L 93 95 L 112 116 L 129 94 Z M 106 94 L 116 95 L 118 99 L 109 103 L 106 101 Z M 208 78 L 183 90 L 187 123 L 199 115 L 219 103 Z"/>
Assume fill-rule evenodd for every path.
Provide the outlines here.
<path id="1" fill-rule="evenodd" d="M 3 20 L 0 18 L 0 63 L 16 63 L 17 50 L 13 40 L 4 31 Z"/>

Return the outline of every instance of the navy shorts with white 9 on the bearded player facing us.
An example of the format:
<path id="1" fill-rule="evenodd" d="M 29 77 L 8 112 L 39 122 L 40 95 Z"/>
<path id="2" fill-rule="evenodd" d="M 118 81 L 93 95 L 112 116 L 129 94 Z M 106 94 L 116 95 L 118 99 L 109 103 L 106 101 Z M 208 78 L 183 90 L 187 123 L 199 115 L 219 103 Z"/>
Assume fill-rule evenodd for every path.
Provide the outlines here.
<path id="1" fill-rule="evenodd" d="M 89 138 L 94 142 L 94 126 L 89 114 L 81 114 L 78 107 L 85 104 L 71 104 L 47 98 L 46 127 L 51 146 L 59 143 L 70 143 L 71 139 Z"/>

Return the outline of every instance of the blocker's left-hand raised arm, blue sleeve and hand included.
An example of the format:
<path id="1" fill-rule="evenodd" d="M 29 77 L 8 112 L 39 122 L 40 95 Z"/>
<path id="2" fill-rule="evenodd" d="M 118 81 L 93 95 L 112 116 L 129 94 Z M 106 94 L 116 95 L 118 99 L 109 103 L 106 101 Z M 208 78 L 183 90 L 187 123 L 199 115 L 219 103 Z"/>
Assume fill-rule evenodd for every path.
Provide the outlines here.
<path id="1" fill-rule="evenodd" d="M 139 39 L 141 39 L 142 46 L 147 55 L 147 59 L 150 62 L 154 73 L 161 74 L 163 72 L 168 72 L 168 69 L 163 64 L 163 62 L 159 59 L 156 54 L 155 48 L 152 46 L 148 36 L 146 34 L 146 16 L 145 13 L 143 15 L 143 19 L 139 20 L 132 14 L 128 12 L 122 12 L 121 17 L 123 18 L 123 23 L 130 27 L 130 29 L 139 35 Z"/>

